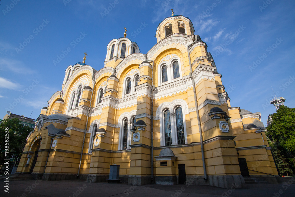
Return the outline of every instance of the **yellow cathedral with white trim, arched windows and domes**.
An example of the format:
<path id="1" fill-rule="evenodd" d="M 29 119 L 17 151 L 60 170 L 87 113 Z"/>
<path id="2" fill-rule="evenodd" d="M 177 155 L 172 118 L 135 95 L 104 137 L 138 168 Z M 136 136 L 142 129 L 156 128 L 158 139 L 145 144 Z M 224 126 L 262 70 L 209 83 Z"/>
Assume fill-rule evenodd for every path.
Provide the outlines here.
<path id="1" fill-rule="evenodd" d="M 68 66 L 41 109 L 17 173 L 43 180 L 104 182 L 110 166 L 129 185 L 244 188 L 277 183 L 261 113 L 231 107 L 207 44 L 188 17 L 165 18 L 146 54 L 124 37 L 104 68 Z"/>

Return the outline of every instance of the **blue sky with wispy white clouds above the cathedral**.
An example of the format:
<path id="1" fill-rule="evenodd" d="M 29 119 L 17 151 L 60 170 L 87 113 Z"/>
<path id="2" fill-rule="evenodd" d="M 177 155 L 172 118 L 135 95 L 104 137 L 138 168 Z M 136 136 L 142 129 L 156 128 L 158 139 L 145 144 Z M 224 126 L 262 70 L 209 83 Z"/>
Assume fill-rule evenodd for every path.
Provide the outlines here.
<path id="1" fill-rule="evenodd" d="M 0 9 L 0 118 L 7 110 L 37 118 L 61 90 L 65 69 L 84 52 L 86 64 L 103 68 L 106 45 L 124 27 L 147 53 L 171 9 L 207 43 L 232 107 L 261 112 L 266 124 L 275 112 L 271 87 L 294 107 L 295 1 L 2 0 Z"/>

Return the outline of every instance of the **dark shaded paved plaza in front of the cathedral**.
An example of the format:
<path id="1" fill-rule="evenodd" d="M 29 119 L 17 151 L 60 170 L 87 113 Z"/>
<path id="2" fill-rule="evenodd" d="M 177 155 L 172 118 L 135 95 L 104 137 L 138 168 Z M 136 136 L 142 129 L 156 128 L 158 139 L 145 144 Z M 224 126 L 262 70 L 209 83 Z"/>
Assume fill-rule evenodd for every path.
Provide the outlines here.
<path id="1" fill-rule="evenodd" d="M 246 189 L 224 189 L 208 185 L 142 185 L 88 183 L 85 180 L 10 180 L 9 193 L 0 180 L 0 196 L 294 196 L 295 184 L 247 184 Z"/>

